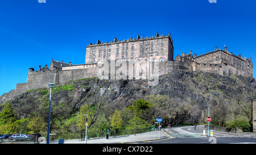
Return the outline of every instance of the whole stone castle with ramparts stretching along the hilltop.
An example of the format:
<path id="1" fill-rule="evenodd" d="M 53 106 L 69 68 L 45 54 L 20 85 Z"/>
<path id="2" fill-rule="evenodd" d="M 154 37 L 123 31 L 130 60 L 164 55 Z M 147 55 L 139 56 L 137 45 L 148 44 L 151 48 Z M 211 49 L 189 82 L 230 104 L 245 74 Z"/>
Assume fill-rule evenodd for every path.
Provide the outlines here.
<path id="1" fill-rule="evenodd" d="M 51 61 L 51 65 L 39 66 L 38 71 L 28 69 L 26 83 L 17 83 L 16 89 L 5 93 L 0 97 L 0 103 L 13 99 L 27 90 L 48 87 L 48 83 L 63 85 L 65 82 L 75 79 L 97 77 L 100 70 L 98 62 L 101 60 L 151 60 L 159 62 L 159 76 L 178 69 L 192 71 L 212 72 L 222 76 L 253 76 L 253 64 L 251 58 L 233 55 L 225 47 L 224 50 L 217 47 L 210 52 L 197 56 L 192 51 L 185 55 L 177 55 L 174 59 L 174 46 L 170 33 L 167 36 L 130 37 L 127 40 L 117 40 L 110 43 L 90 43 L 86 46 L 85 64 L 72 65 L 71 62 Z"/>

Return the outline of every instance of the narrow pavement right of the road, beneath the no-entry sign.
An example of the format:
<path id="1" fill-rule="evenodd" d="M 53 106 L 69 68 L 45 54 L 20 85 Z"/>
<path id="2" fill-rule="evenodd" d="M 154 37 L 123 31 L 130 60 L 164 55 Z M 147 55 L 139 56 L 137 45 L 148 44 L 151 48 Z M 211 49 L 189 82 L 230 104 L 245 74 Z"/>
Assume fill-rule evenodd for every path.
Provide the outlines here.
<path id="1" fill-rule="evenodd" d="M 200 130 L 202 130 L 202 132 L 205 129 L 205 132 L 208 132 L 208 128 L 205 128 L 204 125 L 199 125 L 199 126 L 196 127 L 196 129 L 200 129 Z M 214 133 L 220 133 L 220 134 L 223 134 L 223 135 L 233 135 L 233 136 L 256 137 L 255 132 L 234 133 L 234 132 L 225 132 L 225 131 L 213 130 L 213 135 L 214 135 Z"/>

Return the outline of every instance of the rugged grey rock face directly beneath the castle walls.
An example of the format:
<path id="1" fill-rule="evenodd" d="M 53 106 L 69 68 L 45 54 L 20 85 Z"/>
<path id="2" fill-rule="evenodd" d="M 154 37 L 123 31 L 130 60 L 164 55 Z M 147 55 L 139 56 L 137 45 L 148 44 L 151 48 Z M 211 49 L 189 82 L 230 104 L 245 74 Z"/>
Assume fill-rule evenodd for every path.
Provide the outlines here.
<path id="1" fill-rule="evenodd" d="M 255 79 L 246 76 L 220 76 L 214 73 L 189 72 L 177 70 L 159 77 L 156 86 L 148 86 L 145 80 L 100 80 L 86 78 L 57 85 L 52 90 L 53 106 L 63 105 L 67 114 L 74 114 L 85 102 L 102 102 L 113 108 L 123 109 L 136 99 L 148 95 L 168 95 L 170 99 L 179 98 L 196 104 L 201 110 L 213 97 L 222 95 L 225 99 L 250 100 L 255 95 Z M 242 95 L 243 94 L 243 95 Z M 10 103 L 20 116 L 26 118 L 40 107 L 46 107 L 49 101 L 49 88 L 27 91 Z M 0 107 L 2 108 L 2 107 Z M 1 110 L 1 109 L 0 109 Z"/>

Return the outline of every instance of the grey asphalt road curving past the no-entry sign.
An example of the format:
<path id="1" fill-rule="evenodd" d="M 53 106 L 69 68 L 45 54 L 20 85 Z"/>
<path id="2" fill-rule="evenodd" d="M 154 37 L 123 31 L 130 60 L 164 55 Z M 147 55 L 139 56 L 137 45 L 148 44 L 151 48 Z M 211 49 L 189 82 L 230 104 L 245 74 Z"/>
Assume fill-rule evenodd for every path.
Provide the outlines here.
<path id="1" fill-rule="evenodd" d="M 256 144 L 256 137 L 213 133 L 213 137 L 202 136 L 203 131 L 194 127 L 174 127 L 163 130 L 172 138 L 152 141 L 153 144 Z M 208 135 L 208 131 L 206 131 Z"/>

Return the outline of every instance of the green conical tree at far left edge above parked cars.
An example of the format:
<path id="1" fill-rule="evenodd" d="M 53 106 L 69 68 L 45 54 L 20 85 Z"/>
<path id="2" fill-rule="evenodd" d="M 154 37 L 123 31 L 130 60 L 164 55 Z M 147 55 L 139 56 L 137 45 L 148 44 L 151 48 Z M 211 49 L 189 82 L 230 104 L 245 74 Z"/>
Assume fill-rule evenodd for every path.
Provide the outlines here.
<path id="1" fill-rule="evenodd" d="M 15 122 L 15 120 L 16 115 L 13 107 L 11 107 L 10 103 L 6 103 L 5 107 L 3 107 L 3 110 L 0 113 L 0 123 L 6 124 L 10 122 Z"/>

